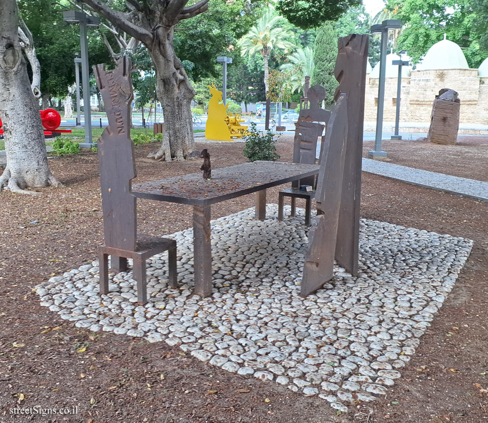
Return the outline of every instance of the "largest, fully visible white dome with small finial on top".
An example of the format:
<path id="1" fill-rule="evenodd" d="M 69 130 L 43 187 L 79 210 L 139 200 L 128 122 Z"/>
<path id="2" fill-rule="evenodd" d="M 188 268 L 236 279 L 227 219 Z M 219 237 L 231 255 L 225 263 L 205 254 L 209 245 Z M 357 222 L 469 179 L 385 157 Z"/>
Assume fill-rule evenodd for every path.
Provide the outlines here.
<path id="1" fill-rule="evenodd" d="M 469 69 L 469 66 L 459 45 L 449 40 L 441 40 L 429 48 L 417 69 Z"/>

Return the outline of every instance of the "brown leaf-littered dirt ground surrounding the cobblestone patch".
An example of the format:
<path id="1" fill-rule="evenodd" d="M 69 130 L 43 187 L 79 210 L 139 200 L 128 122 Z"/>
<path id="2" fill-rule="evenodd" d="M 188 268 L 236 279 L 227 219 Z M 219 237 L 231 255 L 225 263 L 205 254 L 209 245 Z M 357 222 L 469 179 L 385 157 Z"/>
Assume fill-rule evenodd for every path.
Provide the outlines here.
<path id="1" fill-rule="evenodd" d="M 200 160 L 146 159 L 136 148 L 137 181 L 199 171 Z M 278 143 L 290 160 L 292 137 Z M 365 143 L 365 151 L 372 143 Z M 214 168 L 244 161 L 242 143 L 199 143 Z M 438 146 L 387 141 L 393 163 L 487 181 L 487 139 Z M 337 415 L 328 403 L 276 383 L 202 363 L 164 342 L 90 333 L 39 305 L 33 287 L 96 259 L 102 213 L 96 154 L 50 161 L 65 188 L 38 198 L 0 194 L 0 422 L 82 423 L 482 423 L 488 422 L 488 204 L 363 174 L 361 216 L 474 240 L 469 260 L 417 353 L 385 399 Z M 276 202 L 278 188 L 268 192 Z M 191 207 L 138 201 L 141 232 L 191 226 Z M 212 218 L 254 197 L 219 203 Z M 77 352 L 81 346 L 86 349 Z M 81 348 L 83 350 L 83 348 Z M 78 407 L 67 416 L 12 416 L 13 407 Z"/>

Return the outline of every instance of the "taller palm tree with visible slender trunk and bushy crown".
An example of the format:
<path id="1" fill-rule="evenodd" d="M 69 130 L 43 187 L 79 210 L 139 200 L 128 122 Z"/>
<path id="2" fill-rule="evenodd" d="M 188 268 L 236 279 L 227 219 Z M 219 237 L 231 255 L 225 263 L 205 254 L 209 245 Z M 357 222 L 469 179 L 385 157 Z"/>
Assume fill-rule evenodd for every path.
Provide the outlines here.
<path id="1" fill-rule="evenodd" d="M 241 47 L 241 56 L 254 56 L 261 53 L 264 61 L 264 89 L 266 96 L 268 94 L 268 77 L 269 66 L 268 58 L 273 50 L 281 49 L 288 53 L 295 45 L 288 41 L 293 34 L 280 26 L 284 21 L 279 15 L 276 15 L 274 7 L 269 6 L 264 15 L 256 22 L 249 32 L 239 40 L 238 45 Z"/>

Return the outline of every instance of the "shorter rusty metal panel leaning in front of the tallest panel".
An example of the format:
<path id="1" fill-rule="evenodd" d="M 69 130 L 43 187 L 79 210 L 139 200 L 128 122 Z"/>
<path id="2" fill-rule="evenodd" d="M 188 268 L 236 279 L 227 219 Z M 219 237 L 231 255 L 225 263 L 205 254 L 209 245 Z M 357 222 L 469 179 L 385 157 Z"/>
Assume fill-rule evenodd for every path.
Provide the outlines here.
<path id="1" fill-rule="evenodd" d="M 315 200 L 316 226 L 310 229 L 300 295 L 319 289 L 333 276 L 347 140 L 347 100 L 337 100 L 325 133 Z"/>

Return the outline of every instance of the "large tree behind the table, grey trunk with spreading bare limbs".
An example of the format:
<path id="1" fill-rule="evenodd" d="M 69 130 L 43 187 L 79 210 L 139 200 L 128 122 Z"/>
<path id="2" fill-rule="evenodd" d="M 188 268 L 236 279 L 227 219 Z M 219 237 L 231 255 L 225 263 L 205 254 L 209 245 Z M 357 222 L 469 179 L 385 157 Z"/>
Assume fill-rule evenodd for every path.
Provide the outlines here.
<path id="1" fill-rule="evenodd" d="M 156 71 L 156 90 L 163 105 L 163 144 L 157 160 L 184 160 L 193 151 L 190 104 L 195 96 L 181 60 L 174 50 L 176 25 L 208 9 L 209 0 L 186 6 L 188 0 L 128 0 L 124 10 L 101 0 L 83 0 L 117 28 L 140 40 L 148 49 Z"/>

